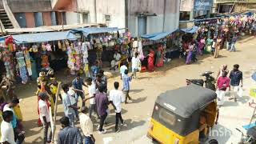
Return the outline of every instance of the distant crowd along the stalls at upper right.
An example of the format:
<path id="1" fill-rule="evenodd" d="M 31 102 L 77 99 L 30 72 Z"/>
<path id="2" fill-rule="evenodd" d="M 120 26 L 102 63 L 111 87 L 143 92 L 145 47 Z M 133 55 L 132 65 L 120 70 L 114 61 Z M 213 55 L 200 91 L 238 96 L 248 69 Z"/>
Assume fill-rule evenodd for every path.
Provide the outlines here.
<path id="1" fill-rule="evenodd" d="M 183 34 L 182 55 L 186 58 L 186 64 L 196 62 L 197 55 L 210 53 L 218 58 L 222 49 L 230 52 L 236 51 L 235 44 L 244 34 L 256 34 L 256 21 L 254 16 L 238 15 L 230 18 L 216 20 L 215 24 L 198 26 L 194 34 Z"/>

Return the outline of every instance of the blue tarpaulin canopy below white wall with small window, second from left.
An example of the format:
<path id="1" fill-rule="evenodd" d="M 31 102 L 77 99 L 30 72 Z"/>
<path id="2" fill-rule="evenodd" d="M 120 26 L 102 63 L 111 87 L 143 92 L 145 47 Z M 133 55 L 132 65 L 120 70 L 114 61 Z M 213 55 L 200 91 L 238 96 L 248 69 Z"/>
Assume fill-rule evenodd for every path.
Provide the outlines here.
<path id="1" fill-rule="evenodd" d="M 110 33 L 113 31 L 118 31 L 118 27 L 86 27 L 70 30 L 72 33 L 82 32 L 82 34 L 86 37 L 89 34 Z"/>

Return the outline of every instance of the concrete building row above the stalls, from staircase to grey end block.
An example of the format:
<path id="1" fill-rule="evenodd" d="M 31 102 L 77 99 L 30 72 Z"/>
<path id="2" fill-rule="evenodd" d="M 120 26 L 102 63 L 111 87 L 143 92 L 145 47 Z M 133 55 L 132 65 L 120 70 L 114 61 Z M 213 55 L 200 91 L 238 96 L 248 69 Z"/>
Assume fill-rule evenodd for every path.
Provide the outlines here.
<path id="1" fill-rule="evenodd" d="M 20 27 L 103 23 L 134 36 L 178 29 L 179 0 L 9 0 L 6 6 Z"/>

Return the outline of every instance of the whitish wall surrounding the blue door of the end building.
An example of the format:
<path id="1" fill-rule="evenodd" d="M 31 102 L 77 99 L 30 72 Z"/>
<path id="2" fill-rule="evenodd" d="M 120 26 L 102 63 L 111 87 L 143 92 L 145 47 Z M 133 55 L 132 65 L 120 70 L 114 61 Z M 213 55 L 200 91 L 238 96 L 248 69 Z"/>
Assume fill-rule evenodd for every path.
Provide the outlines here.
<path id="1" fill-rule="evenodd" d="M 143 13 L 149 11 L 150 14 L 157 14 L 157 16 L 147 16 L 146 18 L 146 34 L 154 34 L 160 32 L 173 32 L 179 26 L 179 0 L 167 0 L 166 12 L 164 14 L 163 0 L 150 0 L 148 7 L 145 4 L 146 0 L 130 0 L 130 14 L 128 16 L 128 29 L 132 36 L 138 36 L 138 16 L 134 12 Z M 157 2 L 157 4 L 156 4 Z M 147 9 L 147 10 L 142 10 Z"/>

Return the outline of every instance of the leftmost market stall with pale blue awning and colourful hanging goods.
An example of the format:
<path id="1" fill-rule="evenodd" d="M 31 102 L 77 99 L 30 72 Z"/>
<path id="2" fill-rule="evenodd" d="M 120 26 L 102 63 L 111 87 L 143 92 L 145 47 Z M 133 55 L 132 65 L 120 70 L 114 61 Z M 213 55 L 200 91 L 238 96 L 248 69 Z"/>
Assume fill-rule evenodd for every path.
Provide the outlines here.
<path id="1" fill-rule="evenodd" d="M 76 37 L 69 32 L 19 34 L 6 37 L 5 42 L 1 42 L 1 58 L 6 67 L 6 76 L 24 84 L 29 78 L 37 78 L 41 70 L 54 67 L 52 65 L 54 54 L 58 55 L 59 50 L 65 51 L 62 49 L 63 46 L 58 46 L 58 42 L 67 39 L 74 41 Z"/>

